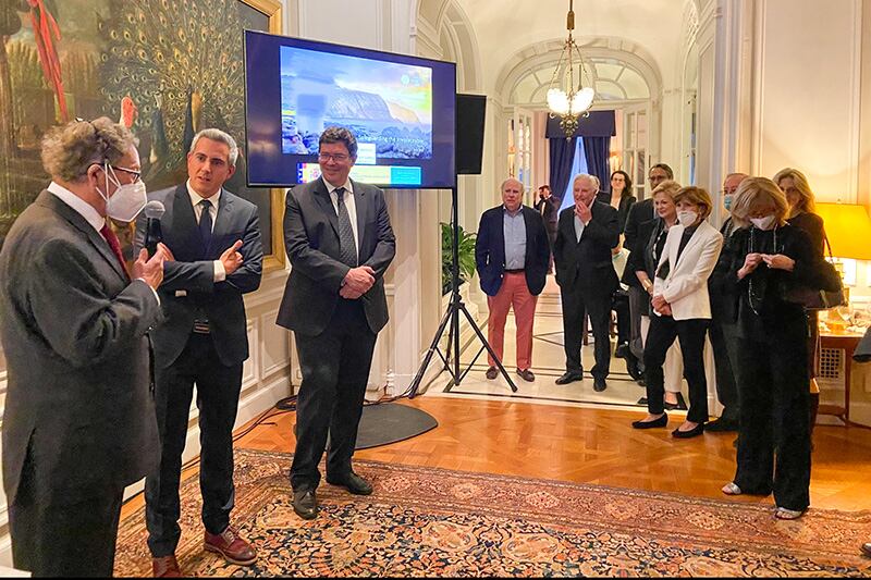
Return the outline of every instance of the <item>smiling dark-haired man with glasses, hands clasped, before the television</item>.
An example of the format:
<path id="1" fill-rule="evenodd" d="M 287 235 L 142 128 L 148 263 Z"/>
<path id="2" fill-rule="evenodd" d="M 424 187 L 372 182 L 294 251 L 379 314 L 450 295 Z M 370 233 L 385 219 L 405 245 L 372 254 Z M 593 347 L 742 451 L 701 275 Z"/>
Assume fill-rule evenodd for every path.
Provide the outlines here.
<path id="1" fill-rule="evenodd" d="M 303 371 L 291 485 L 294 510 L 305 519 L 318 514 L 328 432 L 327 483 L 372 493 L 351 458 L 376 338 L 388 322 L 383 276 L 396 247 L 383 192 L 348 178 L 356 159 L 354 135 L 328 127 L 319 141 L 321 176 L 287 192 L 284 212 L 292 268 L 277 322 L 294 331 Z"/>

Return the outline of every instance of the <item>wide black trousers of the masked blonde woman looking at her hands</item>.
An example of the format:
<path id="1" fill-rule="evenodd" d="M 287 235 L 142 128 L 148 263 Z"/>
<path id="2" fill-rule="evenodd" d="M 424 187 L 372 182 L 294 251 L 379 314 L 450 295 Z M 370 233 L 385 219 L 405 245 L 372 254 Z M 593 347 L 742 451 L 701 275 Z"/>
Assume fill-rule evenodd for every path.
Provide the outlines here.
<path id="1" fill-rule="evenodd" d="M 808 350 L 803 333 L 794 334 L 738 340 L 735 483 L 749 494 L 773 491 L 777 506 L 803 510 L 810 504 Z"/>

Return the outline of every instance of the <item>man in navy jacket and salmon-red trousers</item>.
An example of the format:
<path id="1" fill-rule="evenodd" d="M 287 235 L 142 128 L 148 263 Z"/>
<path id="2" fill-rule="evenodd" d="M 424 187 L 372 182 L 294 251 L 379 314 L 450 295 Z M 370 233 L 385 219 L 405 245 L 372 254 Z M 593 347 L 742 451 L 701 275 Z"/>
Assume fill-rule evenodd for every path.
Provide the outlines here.
<path id="1" fill-rule="evenodd" d="M 475 262 L 490 317 L 488 342 L 502 361 L 505 320 L 514 308 L 517 323 L 517 374 L 535 381 L 532 323 L 536 301 L 544 288 L 550 261 L 550 240 L 544 222 L 532 208 L 523 206 L 524 186 L 508 178 L 502 183 L 502 205 L 481 214 L 475 242 Z M 496 378 L 495 361 L 488 355 L 487 378 Z"/>

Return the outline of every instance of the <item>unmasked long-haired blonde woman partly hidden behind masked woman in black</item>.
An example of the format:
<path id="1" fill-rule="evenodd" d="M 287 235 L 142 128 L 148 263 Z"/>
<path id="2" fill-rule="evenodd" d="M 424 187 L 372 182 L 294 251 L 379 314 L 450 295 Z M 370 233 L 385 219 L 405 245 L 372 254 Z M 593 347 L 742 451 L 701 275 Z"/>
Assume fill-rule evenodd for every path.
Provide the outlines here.
<path id="1" fill-rule="evenodd" d="M 783 190 L 789 203 L 790 225 L 802 230 L 810 237 L 814 255 L 825 257 L 825 227 L 823 219 L 815 211 L 813 192 L 808 178 L 797 169 L 782 169 L 774 175 L 774 183 Z M 810 390 L 810 434 L 813 449 L 813 425 L 817 423 L 817 411 L 820 409 L 820 386 L 817 384 L 817 369 L 820 368 L 820 326 L 814 310 L 806 310 L 808 316 L 808 384 Z"/>

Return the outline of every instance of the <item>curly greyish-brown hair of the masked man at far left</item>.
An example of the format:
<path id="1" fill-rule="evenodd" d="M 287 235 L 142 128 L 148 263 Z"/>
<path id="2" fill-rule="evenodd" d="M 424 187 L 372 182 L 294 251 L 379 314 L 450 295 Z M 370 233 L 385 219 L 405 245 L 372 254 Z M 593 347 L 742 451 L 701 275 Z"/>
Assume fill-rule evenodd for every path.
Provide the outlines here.
<path id="1" fill-rule="evenodd" d="M 127 127 L 108 116 L 76 120 L 53 127 L 42 138 L 42 166 L 52 177 L 77 182 L 90 165 L 118 163 L 138 143 Z"/>

